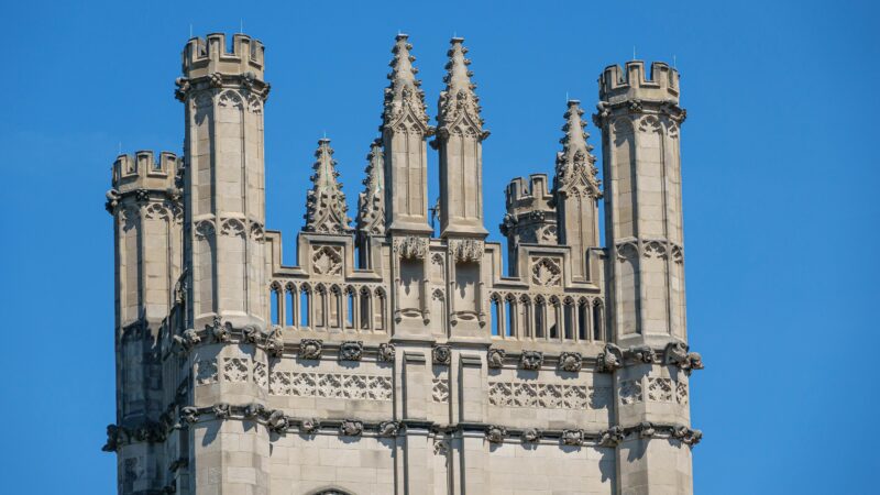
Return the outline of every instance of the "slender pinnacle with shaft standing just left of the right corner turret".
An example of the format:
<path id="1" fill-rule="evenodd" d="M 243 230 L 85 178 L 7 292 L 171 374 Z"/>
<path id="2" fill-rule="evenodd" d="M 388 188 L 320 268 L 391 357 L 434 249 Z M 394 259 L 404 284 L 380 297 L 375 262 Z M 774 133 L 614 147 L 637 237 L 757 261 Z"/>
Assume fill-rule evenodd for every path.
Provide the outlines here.
<path id="1" fill-rule="evenodd" d="M 565 111 L 564 135 L 559 142 L 553 177 L 553 201 L 557 207 L 559 243 L 571 246 L 572 278 L 597 280 L 602 275 L 597 258 L 592 262 L 588 252 L 598 248 L 598 198 L 602 197 L 596 158 L 590 152 L 590 136 L 584 132 L 586 122 L 580 101 L 569 100 Z"/>

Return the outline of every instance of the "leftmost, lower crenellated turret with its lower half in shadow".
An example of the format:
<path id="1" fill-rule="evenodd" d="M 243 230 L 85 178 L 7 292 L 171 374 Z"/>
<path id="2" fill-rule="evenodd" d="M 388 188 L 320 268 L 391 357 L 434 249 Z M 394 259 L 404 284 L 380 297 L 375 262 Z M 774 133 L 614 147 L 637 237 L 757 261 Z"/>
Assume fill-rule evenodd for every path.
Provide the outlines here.
<path id="1" fill-rule="evenodd" d="M 160 334 L 174 305 L 183 258 L 183 209 L 177 175 L 182 162 L 163 152 L 120 155 L 112 167 L 107 210 L 113 216 L 116 244 L 117 431 L 128 442 L 108 444 L 118 452 L 120 481 L 132 459 L 139 468 L 164 473 L 164 453 L 155 443 L 165 410 Z M 148 435 L 134 436 L 135 431 Z M 120 483 L 119 493 L 162 488 L 162 476 Z"/>

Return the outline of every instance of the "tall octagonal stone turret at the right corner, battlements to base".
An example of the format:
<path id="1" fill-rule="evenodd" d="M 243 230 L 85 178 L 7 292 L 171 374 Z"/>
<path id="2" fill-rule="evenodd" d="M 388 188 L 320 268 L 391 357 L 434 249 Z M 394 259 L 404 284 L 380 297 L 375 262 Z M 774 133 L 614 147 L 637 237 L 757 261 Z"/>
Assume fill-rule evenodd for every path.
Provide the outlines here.
<path id="1" fill-rule="evenodd" d="M 679 107 L 679 74 L 663 63 L 651 65 L 650 77 L 642 62 L 627 63 L 623 73 L 609 66 L 600 78 L 598 96 L 608 323 L 614 342 L 641 356 L 614 371 L 615 419 L 622 426 L 686 428 L 686 402 L 671 398 L 686 394 L 690 370 L 701 362 L 685 343 L 679 153 L 685 112 Z M 666 349 L 663 359 L 651 349 Z M 624 439 L 617 455 L 620 493 L 693 490 L 690 449 L 640 435 Z"/>

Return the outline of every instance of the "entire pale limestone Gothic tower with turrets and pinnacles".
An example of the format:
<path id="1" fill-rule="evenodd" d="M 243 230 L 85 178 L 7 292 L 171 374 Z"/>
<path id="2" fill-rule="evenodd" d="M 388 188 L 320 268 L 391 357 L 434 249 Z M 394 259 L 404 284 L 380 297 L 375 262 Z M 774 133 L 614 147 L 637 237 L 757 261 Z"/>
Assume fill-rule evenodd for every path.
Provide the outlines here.
<path id="1" fill-rule="evenodd" d="M 693 492 L 678 72 L 600 75 L 604 185 L 568 102 L 553 176 L 506 186 L 503 273 L 468 50 L 451 40 L 431 125 L 411 48 L 397 35 L 354 219 L 319 140 L 285 266 L 263 44 L 186 44 L 183 156 L 120 155 L 107 194 L 120 494 Z"/>

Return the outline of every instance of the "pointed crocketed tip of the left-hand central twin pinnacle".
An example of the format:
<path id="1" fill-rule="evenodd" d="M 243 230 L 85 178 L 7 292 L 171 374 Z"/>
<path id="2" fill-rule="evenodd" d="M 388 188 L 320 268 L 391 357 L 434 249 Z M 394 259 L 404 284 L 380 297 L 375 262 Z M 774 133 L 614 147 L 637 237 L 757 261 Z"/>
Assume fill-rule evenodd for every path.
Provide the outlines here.
<path id="1" fill-rule="evenodd" d="M 380 131 L 384 128 L 394 128 L 409 116 L 425 135 L 431 135 L 433 128 L 428 125 L 425 91 L 419 89 L 421 81 L 416 79 L 419 70 L 413 65 L 416 57 L 409 54 L 413 45 L 407 42 L 408 38 L 408 34 L 398 34 L 395 37 L 396 42 L 392 48 L 394 58 L 388 64 L 392 67 L 388 74 L 391 84 L 385 88 L 385 110 L 382 113 Z"/>

